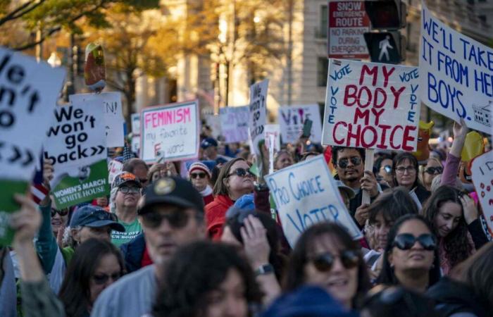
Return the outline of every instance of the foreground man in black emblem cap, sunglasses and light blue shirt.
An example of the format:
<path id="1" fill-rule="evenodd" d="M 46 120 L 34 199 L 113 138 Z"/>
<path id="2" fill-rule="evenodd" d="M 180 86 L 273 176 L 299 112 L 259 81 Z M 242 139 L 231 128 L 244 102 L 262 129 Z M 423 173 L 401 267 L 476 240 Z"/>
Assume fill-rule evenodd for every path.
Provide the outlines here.
<path id="1" fill-rule="evenodd" d="M 146 187 L 139 203 L 139 219 L 154 265 L 126 275 L 96 300 L 92 316 L 130 317 L 149 313 L 163 266 L 175 250 L 206 237 L 204 202 L 192 184 L 182 178 L 161 178 Z"/>

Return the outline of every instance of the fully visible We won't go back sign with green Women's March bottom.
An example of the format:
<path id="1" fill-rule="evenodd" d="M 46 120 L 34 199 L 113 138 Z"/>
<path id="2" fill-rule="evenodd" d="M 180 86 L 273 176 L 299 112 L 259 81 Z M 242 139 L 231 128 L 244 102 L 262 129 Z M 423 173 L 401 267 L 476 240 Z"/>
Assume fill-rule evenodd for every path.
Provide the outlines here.
<path id="1" fill-rule="evenodd" d="M 54 166 L 56 206 L 65 208 L 109 193 L 104 109 L 98 103 L 60 106 L 44 142 Z"/>

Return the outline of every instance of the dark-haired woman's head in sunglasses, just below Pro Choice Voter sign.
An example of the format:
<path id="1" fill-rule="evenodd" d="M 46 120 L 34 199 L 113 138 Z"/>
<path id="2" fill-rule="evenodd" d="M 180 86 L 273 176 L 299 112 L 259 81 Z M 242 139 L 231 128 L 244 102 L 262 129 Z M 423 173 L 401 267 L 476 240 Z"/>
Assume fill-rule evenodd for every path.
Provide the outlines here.
<path id="1" fill-rule="evenodd" d="M 318 223 L 299 237 L 285 273 L 285 292 L 318 285 L 346 309 L 357 309 L 370 288 L 360 246 L 336 223 Z"/>

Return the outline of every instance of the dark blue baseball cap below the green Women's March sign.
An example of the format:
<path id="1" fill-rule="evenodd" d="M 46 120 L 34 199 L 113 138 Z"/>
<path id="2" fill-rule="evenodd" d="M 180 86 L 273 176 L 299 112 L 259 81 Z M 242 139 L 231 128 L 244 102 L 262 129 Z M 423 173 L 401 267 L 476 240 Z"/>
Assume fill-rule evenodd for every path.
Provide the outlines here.
<path id="1" fill-rule="evenodd" d="M 108 225 L 113 230 L 125 232 L 125 227 L 116 220 L 114 213 L 109 213 L 99 206 L 86 205 L 75 211 L 70 219 L 70 227 L 100 228 Z"/>

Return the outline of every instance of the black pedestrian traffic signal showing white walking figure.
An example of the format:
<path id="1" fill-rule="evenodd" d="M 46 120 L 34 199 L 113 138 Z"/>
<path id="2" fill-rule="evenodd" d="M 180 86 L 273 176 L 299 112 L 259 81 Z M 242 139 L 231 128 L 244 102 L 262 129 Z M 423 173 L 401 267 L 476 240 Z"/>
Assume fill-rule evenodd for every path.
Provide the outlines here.
<path id="1" fill-rule="evenodd" d="M 398 64 L 406 59 L 406 37 L 399 29 L 406 27 L 406 4 L 400 0 L 365 1 L 372 32 L 364 34 L 370 60 Z"/>

